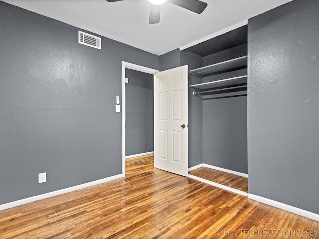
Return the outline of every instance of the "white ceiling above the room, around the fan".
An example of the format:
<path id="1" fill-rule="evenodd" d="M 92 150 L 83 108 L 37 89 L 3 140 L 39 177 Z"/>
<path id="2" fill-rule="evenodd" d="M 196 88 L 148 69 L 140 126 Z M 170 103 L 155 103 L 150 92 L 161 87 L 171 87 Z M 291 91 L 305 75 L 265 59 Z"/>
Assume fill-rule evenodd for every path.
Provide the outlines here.
<path id="1" fill-rule="evenodd" d="M 202 0 L 196 14 L 166 2 L 160 23 L 149 25 L 147 0 L 2 0 L 72 26 L 162 55 L 247 24 L 247 20 L 291 0 Z M 103 43 L 102 43 L 103 44 Z"/>

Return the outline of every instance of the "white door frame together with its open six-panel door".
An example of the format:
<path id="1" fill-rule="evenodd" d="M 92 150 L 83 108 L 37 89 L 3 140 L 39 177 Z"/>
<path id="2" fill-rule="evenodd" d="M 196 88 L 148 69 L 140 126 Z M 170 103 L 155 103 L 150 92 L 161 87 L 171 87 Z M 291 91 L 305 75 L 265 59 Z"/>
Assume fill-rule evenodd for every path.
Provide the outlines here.
<path id="1" fill-rule="evenodd" d="M 153 74 L 154 167 L 188 176 L 188 66 L 159 72 L 127 62 L 122 62 L 122 175 L 126 156 L 126 69 Z"/>

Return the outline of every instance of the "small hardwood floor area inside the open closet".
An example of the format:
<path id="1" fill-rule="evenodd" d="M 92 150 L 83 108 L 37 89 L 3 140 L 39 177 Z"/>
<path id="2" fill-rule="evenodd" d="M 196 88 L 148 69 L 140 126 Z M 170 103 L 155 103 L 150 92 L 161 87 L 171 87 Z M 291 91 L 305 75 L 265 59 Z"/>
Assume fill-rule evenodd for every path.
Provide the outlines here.
<path id="1" fill-rule="evenodd" d="M 206 167 L 192 170 L 189 174 L 248 193 L 248 179 L 244 177 Z"/>

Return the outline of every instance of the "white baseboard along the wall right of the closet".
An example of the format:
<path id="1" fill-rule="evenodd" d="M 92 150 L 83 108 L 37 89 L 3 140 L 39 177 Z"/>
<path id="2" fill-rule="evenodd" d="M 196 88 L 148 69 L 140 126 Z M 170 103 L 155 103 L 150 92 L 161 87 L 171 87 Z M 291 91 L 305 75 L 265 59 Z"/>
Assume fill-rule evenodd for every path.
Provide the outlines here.
<path id="1" fill-rule="evenodd" d="M 319 222 L 319 214 L 249 193 L 248 198 Z"/>

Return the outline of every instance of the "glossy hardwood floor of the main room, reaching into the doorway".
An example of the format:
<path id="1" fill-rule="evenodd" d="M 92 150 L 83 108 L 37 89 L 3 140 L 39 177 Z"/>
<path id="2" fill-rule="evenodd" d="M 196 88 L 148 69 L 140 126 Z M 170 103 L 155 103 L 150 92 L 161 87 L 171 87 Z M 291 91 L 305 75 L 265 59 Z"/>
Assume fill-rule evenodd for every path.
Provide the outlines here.
<path id="1" fill-rule="evenodd" d="M 319 239 L 309 235 L 318 229 L 319 222 L 155 169 L 152 156 L 128 159 L 125 178 L 0 211 L 0 239 Z"/>

